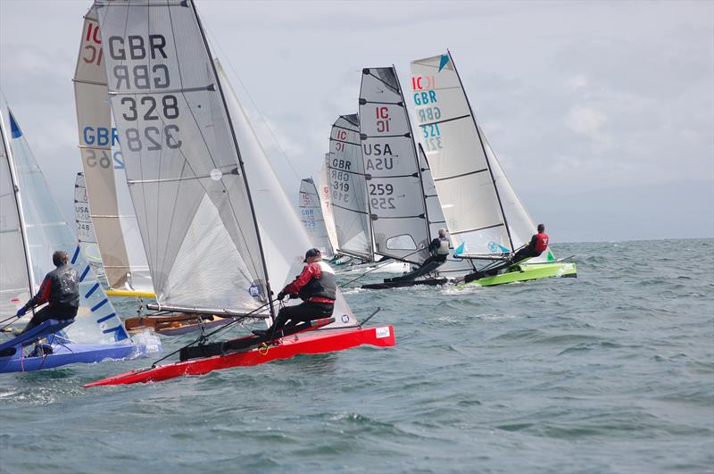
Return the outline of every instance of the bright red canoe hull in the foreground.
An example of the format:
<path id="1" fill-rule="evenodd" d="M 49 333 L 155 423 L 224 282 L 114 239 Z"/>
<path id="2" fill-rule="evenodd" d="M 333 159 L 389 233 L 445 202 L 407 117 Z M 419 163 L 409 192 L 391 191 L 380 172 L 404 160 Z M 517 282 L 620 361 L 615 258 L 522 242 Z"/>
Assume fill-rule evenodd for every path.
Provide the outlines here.
<path id="1" fill-rule="evenodd" d="M 377 345 L 378 347 L 396 345 L 394 328 L 392 326 L 382 326 L 378 328 L 311 331 L 305 335 L 298 334 L 295 337 L 284 337 L 278 345 L 271 345 L 263 349 L 215 355 L 186 362 L 174 362 L 160 365 L 154 369 L 132 370 L 114 377 L 96 380 L 84 387 L 161 382 L 162 380 L 184 375 L 203 375 L 212 370 L 258 365 L 275 361 L 276 359 L 289 359 L 299 353 L 331 353 L 366 344 Z"/>

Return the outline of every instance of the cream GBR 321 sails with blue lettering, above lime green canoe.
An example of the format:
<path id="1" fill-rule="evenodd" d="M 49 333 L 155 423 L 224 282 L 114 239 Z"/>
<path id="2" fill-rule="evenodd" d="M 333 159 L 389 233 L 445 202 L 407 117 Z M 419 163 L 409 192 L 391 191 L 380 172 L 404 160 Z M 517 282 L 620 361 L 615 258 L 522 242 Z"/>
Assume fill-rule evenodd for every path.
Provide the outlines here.
<path id="1" fill-rule="evenodd" d="M 411 73 L 420 138 L 459 254 L 515 251 L 535 229 L 477 127 L 451 54 L 413 61 Z"/>

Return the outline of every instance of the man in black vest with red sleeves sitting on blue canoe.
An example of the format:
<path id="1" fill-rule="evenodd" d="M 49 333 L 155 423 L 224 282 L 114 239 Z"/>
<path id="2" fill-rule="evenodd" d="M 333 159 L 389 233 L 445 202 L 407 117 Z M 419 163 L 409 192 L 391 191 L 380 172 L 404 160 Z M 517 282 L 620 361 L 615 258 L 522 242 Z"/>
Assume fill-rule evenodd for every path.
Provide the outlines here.
<path id="1" fill-rule="evenodd" d="M 29 331 L 46 320 L 71 320 L 77 316 L 79 275 L 68 261 L 67 254 L 62 250 L 52 254 L 52 262 L 57 268 L 46 274 L 37 295 L 30 298 L 29 302 L 17 311 L 16 316 L 20 318 L 40 304 L 47 305 L 32 316 L 23 331 Z"/>

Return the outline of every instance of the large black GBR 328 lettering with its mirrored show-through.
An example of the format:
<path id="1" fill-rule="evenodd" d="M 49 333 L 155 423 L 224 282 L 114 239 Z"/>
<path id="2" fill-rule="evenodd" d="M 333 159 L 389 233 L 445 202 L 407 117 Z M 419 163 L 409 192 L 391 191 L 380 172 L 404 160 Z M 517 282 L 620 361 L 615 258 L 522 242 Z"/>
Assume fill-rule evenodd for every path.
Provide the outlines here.
<path id="1" fill-rule="evenodd" d="M 166 37 L 149 35 L 147 38 L 138 35 L 128 37 L 109 37 L 109 54 L 115 61 L 155 61 L 168 59 L 166 54 Z M 114 90 L 146 90 L 154 89 L 152 95 L 124 96 L 120 99 L 121 117 L 127 121 L 124 135 L 126 145 L 132 152 L 156 151 L 164 146 L 170 149 L 180 148 L 179 126 L 175 121 L 179 118 L 179 98 L 173 94 L 158 96 L 158 89 L 169 89 L 171 79 L 169 68 L 165 64 L 137 64 L 129 67 L 117 64 L 112 68 Z M 143 128 L 130 127 L 130 122 L 143 121 Z"/>

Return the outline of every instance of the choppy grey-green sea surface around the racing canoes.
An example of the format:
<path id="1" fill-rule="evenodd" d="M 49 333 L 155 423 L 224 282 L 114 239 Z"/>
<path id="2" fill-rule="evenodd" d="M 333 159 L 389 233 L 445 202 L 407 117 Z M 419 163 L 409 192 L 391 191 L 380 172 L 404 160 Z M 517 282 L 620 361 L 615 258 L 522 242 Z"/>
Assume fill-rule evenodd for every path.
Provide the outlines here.
<path id="1" fill-rule="evenodd" d="M 714 471 L 714 240 L 554 250 L 577 279 L 345 291 L 394 348 L 90 390 L 156 357 L 0 375 L 0 471 Z"/>

